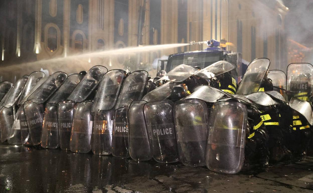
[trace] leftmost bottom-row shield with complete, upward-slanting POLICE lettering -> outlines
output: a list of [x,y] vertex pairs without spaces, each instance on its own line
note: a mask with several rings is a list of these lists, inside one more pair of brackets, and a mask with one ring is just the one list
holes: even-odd
[[23,108],[32,144],[39,145],[42,131],[42,122],[44,119],[44,105],[27,101],[24,103]]

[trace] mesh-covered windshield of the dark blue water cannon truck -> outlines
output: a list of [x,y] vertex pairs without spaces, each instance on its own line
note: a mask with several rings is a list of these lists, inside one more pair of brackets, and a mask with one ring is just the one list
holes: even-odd
[[174,54],[168,58],[167,69],[169,72],[180,64],[186,64],[188,66],[199,66],[201,69],[223,60],[222,52],[220,51],[198,51],[192,53]]

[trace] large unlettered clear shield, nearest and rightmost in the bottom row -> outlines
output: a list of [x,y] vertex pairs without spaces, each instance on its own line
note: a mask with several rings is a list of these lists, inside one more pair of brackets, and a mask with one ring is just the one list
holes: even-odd
[[206,149],[209,170],[238,173],[244,163],[247,108],[238,102],[217,102],[210,115]]

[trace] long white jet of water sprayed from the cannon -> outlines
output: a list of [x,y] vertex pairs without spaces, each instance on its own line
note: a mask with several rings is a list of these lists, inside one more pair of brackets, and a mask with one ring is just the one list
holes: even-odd
[[[152,51],[165,50],[190,45],[189,43],[174,43],[161,45],[148,45],[139,47],[126,47],[113,50],[97,51],[83,54],[76,54],[67,57],[51,58],[39,60],[32,63],[14,64],[0,67],[3,80],[13,81],[12,77],[22,77],[23,74],[30,74],[33,71],[42,69],[49,70],[52,74],[57,71],[63,71],[67,74],[78,73],[81,70],[88,70],[94,65],[105,65],[110,69],[124,69],[124,66],[114,62],[119,57],[129,57],[138,53],[149,53]],[[152,65],[152,64],[151,64]]]

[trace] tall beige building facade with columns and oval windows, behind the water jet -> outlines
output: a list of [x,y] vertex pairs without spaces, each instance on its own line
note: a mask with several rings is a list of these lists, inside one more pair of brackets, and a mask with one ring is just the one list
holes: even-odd
[[[0,20],[5,26],[0,29],[1,68],[139,44],[212,38],[225,39],[227,49],[241,52],[248,62],[266,57],[272,69],[282,70],[288,64],[288,8],[280,0],[4,0],[0,9],[5,13]],[[152,63],[163,55],[203,48],[152,51],[140,61]],[[123,68],[127,59],[102,58],[100,64]],[[81,65],[95,65],[92,60]]]

